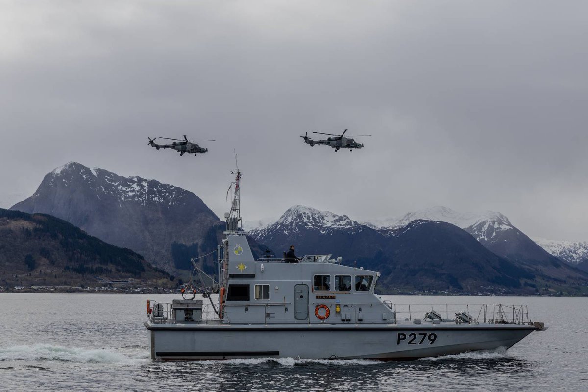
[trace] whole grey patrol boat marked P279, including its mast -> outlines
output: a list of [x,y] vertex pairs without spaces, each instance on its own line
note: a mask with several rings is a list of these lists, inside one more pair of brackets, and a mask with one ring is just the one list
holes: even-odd
[[[154,360],[410,360],[508,349],[546,329],[529,320],[526,306],[483,304],[475,316],[470,307],[450,313],[443,305],[415,318],[415,306],[401,307],[374,293],[379,273],[342,265],[330,254],[255,259],[239,228],[239,182],[237,171],[225,238],[217,248],[218,282],[203,291],[209,303],[194,299],[191,284],[182,295],[192,299],[147,301]],[[213,292],[219,292],[218,302]]]

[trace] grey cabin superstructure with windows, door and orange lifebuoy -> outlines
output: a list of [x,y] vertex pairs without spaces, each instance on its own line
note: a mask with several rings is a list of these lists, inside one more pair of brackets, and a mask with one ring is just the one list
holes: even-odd
[[243,234],[229,234],[218,254],[223,323],[395,323],[391,304],[374,294],[380,274],[340,257],[255,260]]

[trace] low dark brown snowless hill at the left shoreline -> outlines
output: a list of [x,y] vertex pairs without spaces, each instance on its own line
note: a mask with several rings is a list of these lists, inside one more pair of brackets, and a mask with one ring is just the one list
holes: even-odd
[[106,280],[142,279],[173,287],[168,273],[130,249],[92,237],[46,214],[0,209],[0,281],[15,284],[95,286]]

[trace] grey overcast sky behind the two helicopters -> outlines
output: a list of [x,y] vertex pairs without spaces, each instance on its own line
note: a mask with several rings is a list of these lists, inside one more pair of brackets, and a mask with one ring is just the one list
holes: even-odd
[[[588,240],[588,2],[0,0],[0,206],[76,161],[228,207]],[[300,135],[351,135],[335,153]],[[206,155],[147,145],[188,135]]]

